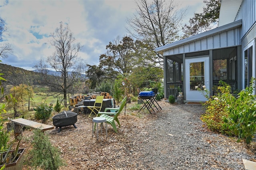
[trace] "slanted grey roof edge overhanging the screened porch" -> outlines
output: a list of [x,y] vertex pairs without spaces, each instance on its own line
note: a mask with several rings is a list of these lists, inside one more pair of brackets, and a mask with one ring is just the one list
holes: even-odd
[[242,20],[238,20],[238,21],[232,22],[230,24],[226,24],[224,26],[220,26],[218,28],[214,28],[212,30],[203,32],[201,34],[197,34],[197,35],[185,38],[183,40],[173,42],[173,43],[164,45],[162,47],[158,47],[158,48],[155,49],[155,51],[157,53],[163,55],[164,51],[166,51],[168,49],[172,49],[174,47],[178,47],[180,45],[184,45],[184,44],[187,44],[187,43],[190,43],[190,42],[195,42],[197,40],[204,39],[206,37],[213,36],[215,34],[220,34],[222,32],[226,32],[228,30],[232,30],[232,29],[235,29],[235,28],[240,28],[241,26],[242,26]]

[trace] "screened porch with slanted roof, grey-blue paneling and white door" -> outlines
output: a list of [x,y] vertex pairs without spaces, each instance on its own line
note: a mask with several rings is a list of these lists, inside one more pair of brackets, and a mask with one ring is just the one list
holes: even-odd
[[242,21],[191,36],[156,49],[164,57],[164,98],[177,97],[179,89],[184,102],[206,101],[196,87],[214,93],[220,80],[242,89],[241,57]]

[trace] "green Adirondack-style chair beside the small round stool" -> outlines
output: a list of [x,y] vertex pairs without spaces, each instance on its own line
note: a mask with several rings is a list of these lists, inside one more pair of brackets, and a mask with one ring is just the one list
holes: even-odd
[[[98,112],[97,114],[97,117],[104,117],[106,118],[106,123],[112,125],[112,127],[114,128],[114,131],[117,132],[117,129],[116,129],[116,124],[115,124],[115,121],[118,123],[119,127],[121,127],[120,123],[119,123],[119,120],[118,120],[118,115],[121,113],[121,111],[124,109],[124,106],[126,104],[126,97],[124,97],[121,105],[119,108],[115,108],[115,110],[117,112]],[[110,110],[109,108],[106,108],[106,110]],[[114,116],[110,116],[110,115],[114,115]],[[96,128],[96,124],[94,125],[94,130]]]

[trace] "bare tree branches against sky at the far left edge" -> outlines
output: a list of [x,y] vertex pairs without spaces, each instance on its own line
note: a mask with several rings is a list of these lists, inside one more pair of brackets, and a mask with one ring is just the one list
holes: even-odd
[[8,53],[12,53],[12,46],[9,43],[4,43],[2,35],[7,32],[5,20],[0,18],[0,57],[8,57]]

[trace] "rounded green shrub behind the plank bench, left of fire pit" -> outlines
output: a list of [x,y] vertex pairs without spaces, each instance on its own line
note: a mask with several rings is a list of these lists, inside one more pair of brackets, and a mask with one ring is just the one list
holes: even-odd
[[52,105],[48,106],[46,103],[41,103],[34,109],[36,111],[35,118],[38,120],[42,120],[43,122],[47,121],[52,115]]

